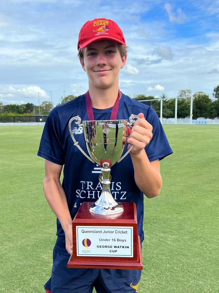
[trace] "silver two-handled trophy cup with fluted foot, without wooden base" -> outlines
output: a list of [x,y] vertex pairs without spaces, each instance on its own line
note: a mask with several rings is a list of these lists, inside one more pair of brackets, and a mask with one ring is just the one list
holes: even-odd
[[[69,132],[74,145],[92,163],[101,167],[99,181],[102,184],[102,193],[99,199],[90,207],[90,212],[100,215],[112,215],[123,212],[124,207],[116,202],[110,191],[111,175],[110,167],[116,162],[120,162],[131,151],[132,147],[122,156],[125,144],[122,142],[124,124],[127,127],[132,125],[135,120],[140,119],[137,115],[131,115],[128,120],[100,120],[83,121],[79,116],[69,120]],[[75,140],[72,132],[72,122],[83,126],[84,140],[87,147],[88,156]]]

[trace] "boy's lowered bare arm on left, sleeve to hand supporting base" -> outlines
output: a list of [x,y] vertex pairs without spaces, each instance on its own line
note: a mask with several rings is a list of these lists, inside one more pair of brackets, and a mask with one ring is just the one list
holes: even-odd
[[68,209],[65,191],[60,183],[62,165],[45,160],[43,189],[46,200],[65,232],[65,246],[72,253],[72,219]]

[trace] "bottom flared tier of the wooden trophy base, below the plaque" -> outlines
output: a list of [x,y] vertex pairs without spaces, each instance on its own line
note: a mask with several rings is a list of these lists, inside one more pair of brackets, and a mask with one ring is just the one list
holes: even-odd
[[140,236],[138,236],[137,244],[137,261],[121,260],[121,261],[107,261],[107,260],[94,260],[92,258],[84,257],[84,260],[74,260],[71,254],[67,263],[67,268],[88,268],[88,269],[122,269],[122,270],[142,270],[142,255]]

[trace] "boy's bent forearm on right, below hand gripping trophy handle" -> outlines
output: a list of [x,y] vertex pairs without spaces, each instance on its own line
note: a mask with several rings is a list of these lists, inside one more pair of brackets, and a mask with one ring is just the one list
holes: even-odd
[[138,188],[149,198],[158,195],[162,179],[160,173],[150,163],[145,150],[142,149],[138,154],[130,154]]

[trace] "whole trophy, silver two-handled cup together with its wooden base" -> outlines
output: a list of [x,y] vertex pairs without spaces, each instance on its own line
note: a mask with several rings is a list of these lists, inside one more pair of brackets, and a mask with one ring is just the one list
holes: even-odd
[[[136,206],[121,205],[110,191],[110,167],[120,162],[125,143],[122,142],[124,123],[132,125],[137,115],[127,120],[83,121],[79,116],[69,121],[74,145],[88,160],[101,167],[99,181],[102,193],[96,202],[83,202],[72,221],[73,252],[68,268],[107,268],[142,270],[141,244],[138,236]],[[81,149],[72,132],[72,121],[83,126],[89,156]]]

